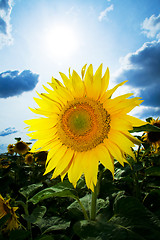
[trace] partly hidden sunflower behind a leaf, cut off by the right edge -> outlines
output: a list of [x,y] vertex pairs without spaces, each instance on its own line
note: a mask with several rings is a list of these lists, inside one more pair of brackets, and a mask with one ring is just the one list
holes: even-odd
[[[160,128],[159,118],[156,120],[152,118],[150,120],[150,124]],[[146,134],[143,136],[143,140],[147,141],[152,146],[152,149],[155,150],[155,152],[158,152],[160,147],[160,132],[146,132]]]

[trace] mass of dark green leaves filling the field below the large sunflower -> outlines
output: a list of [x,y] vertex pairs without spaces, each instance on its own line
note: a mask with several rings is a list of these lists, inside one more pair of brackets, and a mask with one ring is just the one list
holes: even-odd
[[[150,121],[150,120],[148,120]],[[159,131],[147,124],[132,132]],[[128,164],[115,161],[114,180],[103,172],[97,199],[96,220],[90,219],[91,192],[84,177],[76,189],[67,180],[50,180],[43,175],[45,166],[24,162],[25,155],[0,155],[0,194],[18,206],[19,229],[2,231],[5,240],[154,240],[160,236],[160,153],[137,136],[142,145],[133,150],[136,161],[127,156]],[[20,138],[16,139],[20,141]],[[88,218],[86,218],[88,216]],[[10,215],[0,219],[1,230]]]

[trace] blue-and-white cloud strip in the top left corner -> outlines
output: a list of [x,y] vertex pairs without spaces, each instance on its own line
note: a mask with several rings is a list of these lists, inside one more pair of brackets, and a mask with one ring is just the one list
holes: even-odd
[[12,0],[0,0],[0,49],[13,42],[10,25],[11,11]]

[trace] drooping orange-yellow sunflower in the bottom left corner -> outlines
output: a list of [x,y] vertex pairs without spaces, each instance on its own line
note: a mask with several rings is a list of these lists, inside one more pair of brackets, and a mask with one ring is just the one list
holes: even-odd
[[9,214],[9,219],[6,221],[6,227],[3,229],[4,231],[12,231],[19,228],[19,221],[15,211],[18,207],[11,207],[9,204],[10,199],[5,200],[0,194],[0,219],[5,215]]

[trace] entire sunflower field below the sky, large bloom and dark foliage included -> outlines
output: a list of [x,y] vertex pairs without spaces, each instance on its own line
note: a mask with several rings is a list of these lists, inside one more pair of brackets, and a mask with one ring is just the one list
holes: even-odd
[[0,155],[0,239],[158,239],[159,119],[130,116],[142,100],[113,98],[102,65],[60,75],[26,121],[37,141]]

